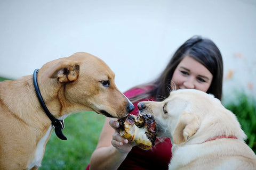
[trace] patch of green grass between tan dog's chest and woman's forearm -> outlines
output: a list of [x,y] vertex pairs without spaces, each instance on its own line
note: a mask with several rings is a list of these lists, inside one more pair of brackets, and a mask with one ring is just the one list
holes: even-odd
[[62,130],[67,141],[60,140],[53,131],[39,169],[85,169],[104,122],[105,116],[94,112],[69,115]]

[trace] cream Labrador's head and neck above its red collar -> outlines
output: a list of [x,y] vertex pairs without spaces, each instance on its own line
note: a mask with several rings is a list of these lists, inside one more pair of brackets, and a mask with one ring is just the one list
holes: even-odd
[[199,90],[172,91],[164,101],[142,101],[138,108],[154,115],[157,136],[168,137],[177,145],[202,143],[220,135],[246,138],[236,116],[213,95]]

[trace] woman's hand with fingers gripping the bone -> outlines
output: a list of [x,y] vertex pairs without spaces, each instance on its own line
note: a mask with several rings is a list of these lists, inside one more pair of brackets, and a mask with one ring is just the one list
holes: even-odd
[[120,152],[124,152],[125,154],[130,152],[132,147],[135,146],[135,143],[129,142],[127,139],[121,137],[118,129],[120,126],[118,121],[110,120],[109,124],[115,130],[115,133],[113,134],[113,138],[111,140],[111,144]]

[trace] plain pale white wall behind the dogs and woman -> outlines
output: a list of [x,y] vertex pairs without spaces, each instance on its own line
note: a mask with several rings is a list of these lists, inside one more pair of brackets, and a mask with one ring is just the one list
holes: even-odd
[[1,0],[0,24],[0,77],[82,51],[102,58],[124,92],[155,79],[201,35],[221,50],[224,96],[256,97],[256,0]]

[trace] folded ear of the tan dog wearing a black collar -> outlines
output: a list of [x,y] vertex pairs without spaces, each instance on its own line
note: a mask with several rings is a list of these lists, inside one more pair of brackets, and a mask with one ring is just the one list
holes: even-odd
[[75,61],[61,61],[54,65],[48,72],[49,78],[57,79],[61,83],[67,83],[77,80],[80,66]]

